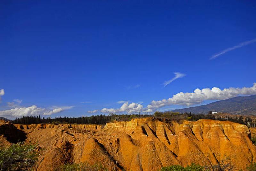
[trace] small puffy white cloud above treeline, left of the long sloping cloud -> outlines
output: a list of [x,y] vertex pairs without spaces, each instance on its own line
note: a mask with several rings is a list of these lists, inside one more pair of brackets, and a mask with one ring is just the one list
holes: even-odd
[[119,113],[119,112],[127,112],[127,113],[138,113],[143,110],[143,106],[139,103],[124,103],[120,108],[103,108],[101,112],[103,113]]

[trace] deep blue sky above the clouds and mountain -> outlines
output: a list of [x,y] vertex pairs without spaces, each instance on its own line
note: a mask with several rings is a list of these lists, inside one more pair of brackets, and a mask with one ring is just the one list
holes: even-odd
[[[6,116],[33,105],[41,108],[33,114],[92,115],[89,110],[120,108],[121,100],[147,108],[196,88],[256,82],[255,42],[209,60],[256,39],[255,1],[6,0],[0,23],[0,113]],[[164,87],[177,72],[184,76]],[[186,107],[180,104],[153,111]]]

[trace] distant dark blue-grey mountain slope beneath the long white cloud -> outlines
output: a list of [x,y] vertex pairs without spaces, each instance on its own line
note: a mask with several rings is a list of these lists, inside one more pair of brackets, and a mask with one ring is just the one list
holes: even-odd
[[256,115],[256,95],[233,97],[226,100],[216,101],[207,105],[172,110],[172,112],[207,114],[210,110],[212,112],[225,112],[236,115]]

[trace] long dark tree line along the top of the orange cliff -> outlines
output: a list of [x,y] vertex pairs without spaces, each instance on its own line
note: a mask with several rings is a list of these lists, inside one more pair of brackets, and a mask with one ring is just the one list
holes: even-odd
[[[210,112],[209,112],[210,113]],[[92,115],[89,117],[56,117],[56,118],[41,118],[40,116],[26,116],[22,118],[17,118],[12,121],[12,123],[19,123],[19,124],[38,124],[38,123],[52,123],[52,124],[106,124],[108,122],[112,122],[114,120],[117,121],[130,121],[134,118],[145,118],[145,117],[152,117],[158,119],[165,119],[165,120],[188,120],[188,121],[197,121],[199,119],[213,119],[213,120],[220,120],[223,121],[225,118],[215,117],[212,114],[192,114],[190,113],[179,113],[179,112],[158,112],[156,111],[154,115],[148,114],[108,114],[108,115]],[[249,119],[250,120],[250,119]],[[243,121],[243,117],[228,117],[228,121],[246,124]],[[250,120],[251,121],[251,120]],[[250,123],[252,126],[253,124]],[[256,124],[254,124],[256,125]]]

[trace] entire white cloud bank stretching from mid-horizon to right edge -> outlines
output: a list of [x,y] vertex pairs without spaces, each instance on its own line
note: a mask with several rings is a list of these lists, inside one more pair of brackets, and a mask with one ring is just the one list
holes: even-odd
[[[103,108],[102,113],[139,113],[139,112],[154,112],[158,108],[171,105],[183,105],[191,106],[194,104],[200,104],[204,100],[225,100],[239,95],[252,95],[256,94],[256,83],[252,87],[243,87],[243,88],[224,88],[220,89],[218,87],[213,88],[203,88],[195,89],[191,93],[177,93],[170,97],[169,99],[163,99],[159,101],[152,101],[146,108],[143,108],[143,105],[139,103],[129,103],[125,102],[120,108]],[[96,110],[94,110],[96,111]],[[89,112],[89,111],[88,111]]]

